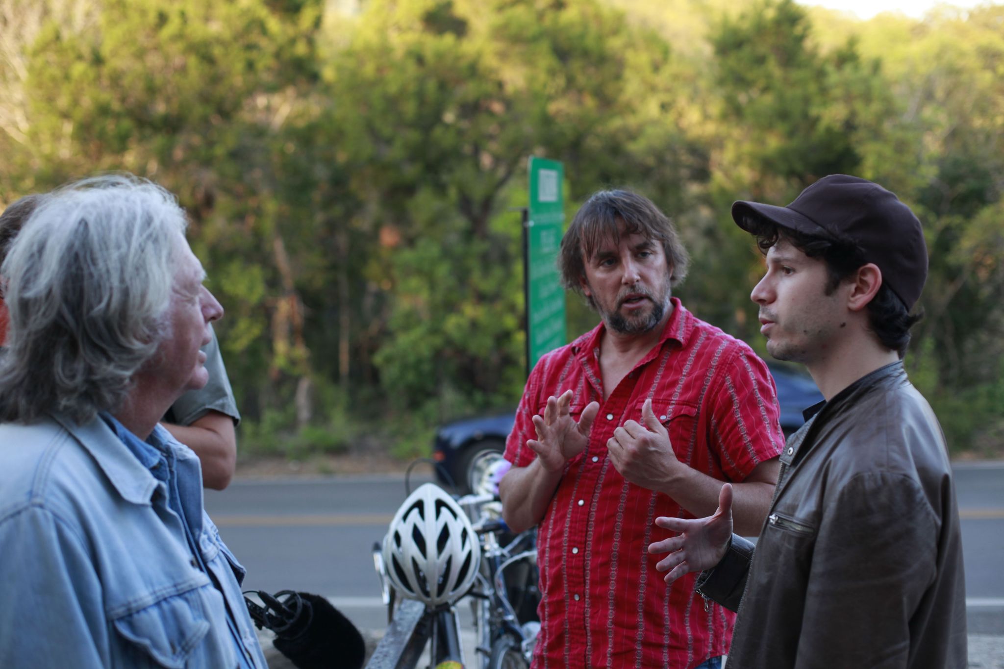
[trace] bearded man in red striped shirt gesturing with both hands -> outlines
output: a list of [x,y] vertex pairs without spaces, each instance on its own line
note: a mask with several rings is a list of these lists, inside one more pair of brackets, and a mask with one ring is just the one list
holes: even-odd
[[717,668],[734,614],[694,575],[667,587],[647,549],[670,536],[657,517],[713,514],[722,480],[736,532],[760,532],[784,445],[774,381],[672,297],[688,256],[648,199],[593,195],[560,264],[601,322],[534,367],[499,486],[510,528],[538,526],[534,667]]

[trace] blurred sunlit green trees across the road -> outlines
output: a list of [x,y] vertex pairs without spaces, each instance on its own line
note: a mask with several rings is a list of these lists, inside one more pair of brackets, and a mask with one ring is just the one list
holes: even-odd
[[108,170],[178,194],[245,454],[414,454],[515,406],[531,154],[564,162],[568,218],[621,186],[674,216],[681,296],[761,351],[731,203],[891,188],[931,251],[912,376],[954,448],[999,448],[1002,137],[1000,5],[0,0],[0,205]]

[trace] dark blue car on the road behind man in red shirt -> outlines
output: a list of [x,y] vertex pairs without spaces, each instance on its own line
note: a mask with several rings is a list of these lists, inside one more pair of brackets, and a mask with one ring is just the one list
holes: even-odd
[[[767,367],[777,385],[781,429],[787,436],[804,422],[802,410],[821,401],[822,395],[805,372],[775,362],[768,362]],[[433,445],[433,456],[441,463],[436,471],[439,482],[443,485],[454,483],[460,494],[475,491],[478,482],[485,479],[488,468],[501,457],[512,423],[513,413],[507,411],[458,420],[441,427]]]

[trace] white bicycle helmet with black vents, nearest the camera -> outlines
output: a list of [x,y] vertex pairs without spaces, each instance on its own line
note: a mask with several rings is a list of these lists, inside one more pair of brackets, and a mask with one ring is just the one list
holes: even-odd
[[437,607],[453,604],[470,589],[481,564],[481,546],[453,497],[425,483],[391,521],[384,562],[405,597]]

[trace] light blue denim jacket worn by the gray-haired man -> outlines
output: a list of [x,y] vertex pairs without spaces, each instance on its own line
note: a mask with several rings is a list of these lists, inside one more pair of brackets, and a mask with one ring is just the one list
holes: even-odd
[[[158,426],[179,475],[198,457]],[[0,666],[266,669],[244,568],[202,513],[192,557],[165,484],[99,418],[0,425]],[[201,504],[200,504],[201,508]]]

